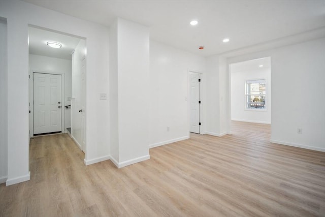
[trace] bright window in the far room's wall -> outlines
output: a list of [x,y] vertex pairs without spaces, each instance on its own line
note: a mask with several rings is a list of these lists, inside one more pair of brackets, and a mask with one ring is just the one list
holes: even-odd
[[266,109],[266,80],[246,81],[246,109]]

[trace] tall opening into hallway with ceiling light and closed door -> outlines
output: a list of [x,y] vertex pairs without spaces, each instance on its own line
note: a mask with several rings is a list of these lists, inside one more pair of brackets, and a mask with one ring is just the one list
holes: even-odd
[[30,138],[70,130],[85,152],[86,40],[29,25],[28,47]]

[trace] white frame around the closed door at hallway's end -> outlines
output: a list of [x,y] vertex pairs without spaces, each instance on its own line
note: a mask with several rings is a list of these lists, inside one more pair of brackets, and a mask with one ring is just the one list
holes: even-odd
[[66,133],[66,129],[64,126],[64,109],[65,99],[64,99],[64,74],[57,72],[44,72],[38,70],[30,70],[29,74],[29,137],[34,137],[34,73],[42,73],[42,74],[53,74],[53,75],[61,75],[61,132]]

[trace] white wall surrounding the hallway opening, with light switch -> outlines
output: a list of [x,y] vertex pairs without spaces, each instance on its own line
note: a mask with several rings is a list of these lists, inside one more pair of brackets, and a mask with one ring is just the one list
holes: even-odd
[[[109,103],[99,94],[108,92],[108,28],[21,1],[1,1],[0,16],[8,27],[8,179],[7,185],[28,180],[28,24],[87,39],[87,159],[109,155],[106,129]],[[55,20],[55,22],[53,22]],[[18,60],[18,61],[17,61]],[[19,100],[17,100],[19,99]],[[23,112],[25,111],[25,112]],[[19,132],[19,136],[17,136]],[[89,149],[89,151],[88,151]]]

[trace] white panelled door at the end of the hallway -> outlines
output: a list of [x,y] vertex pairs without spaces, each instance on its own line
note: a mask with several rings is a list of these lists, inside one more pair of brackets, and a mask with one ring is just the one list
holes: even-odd
[[34,134],[61,132],[61,75],[34,73]]

